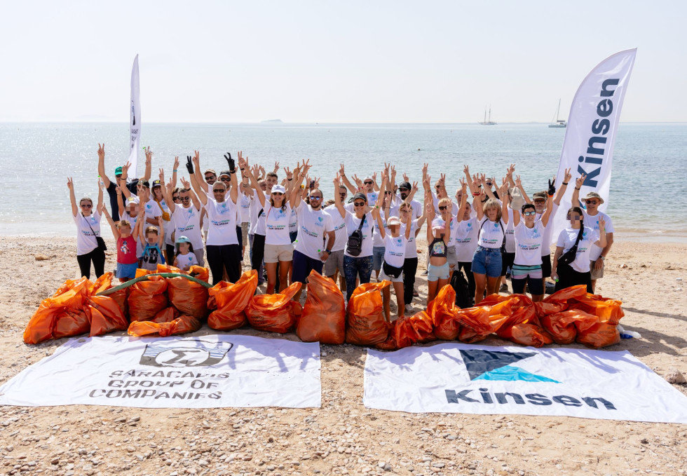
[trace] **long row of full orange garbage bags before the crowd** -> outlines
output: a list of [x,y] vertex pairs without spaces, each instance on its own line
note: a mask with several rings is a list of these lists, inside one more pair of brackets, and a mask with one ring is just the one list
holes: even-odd
[[[388,322],[381,290],[389,281],[357,287],[348,306],[339,287],[313,271],[308,277],[304,306],[292,298],[301,290],[293,283],[278,294],[255,294],[257,272],[246,271],[236,283],[210,285],[208,268],[191,266],[188,273],[158,265],[156,272],[137,270],[128,287],[111,290],[112,274],[91,283],[67,280],[44,299],[24,332],[27,344],[115,330],[131,336],[170,336],[193,332],[207,320],[212,329],[229,331],[250,325],[266,332],[292,332],[302,341],[357,344],[395,350],[435,340],[482,341],[490,334],[524,346],[578,342],[592,348],[618,344],[620,301],[589,294],[585,286],[569,287],[541,302],[524,294],[492,294],[479,306],[461,309],[450,285],[442,287],[426,310]],[[99,295],[101,294],[101,295]]]

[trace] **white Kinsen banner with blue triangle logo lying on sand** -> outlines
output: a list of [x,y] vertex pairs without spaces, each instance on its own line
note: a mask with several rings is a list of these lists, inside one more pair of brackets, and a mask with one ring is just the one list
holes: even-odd
[[369,350],[367,408],[687,423],[687,398],[627,351],[438,344]]

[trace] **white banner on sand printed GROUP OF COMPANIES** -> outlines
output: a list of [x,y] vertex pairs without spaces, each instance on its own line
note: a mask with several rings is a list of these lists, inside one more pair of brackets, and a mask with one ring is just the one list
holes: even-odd
[[0,387],[29,407],[320,407],[320,345],[213,334],[70,339]]

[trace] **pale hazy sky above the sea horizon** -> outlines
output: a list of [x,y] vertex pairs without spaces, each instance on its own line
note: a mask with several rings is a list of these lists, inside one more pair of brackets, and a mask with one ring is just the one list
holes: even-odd
[[685,1],[0,0],[0,121],[562,117],[639,48],[621,121],[687,121]]

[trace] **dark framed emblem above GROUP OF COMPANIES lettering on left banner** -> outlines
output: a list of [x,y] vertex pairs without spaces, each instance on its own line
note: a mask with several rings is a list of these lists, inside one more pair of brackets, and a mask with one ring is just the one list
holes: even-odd
[[140,364],[151,367],[208,367],[224,359],[233,344],[184,339],[147,344]]

